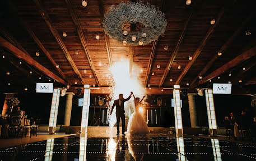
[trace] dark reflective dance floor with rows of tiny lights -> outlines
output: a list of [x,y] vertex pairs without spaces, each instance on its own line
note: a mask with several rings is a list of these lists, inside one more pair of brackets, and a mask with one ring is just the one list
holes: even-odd
[[184,135],[72,135],[0,149],[0,160],[256,160],[254,145]]

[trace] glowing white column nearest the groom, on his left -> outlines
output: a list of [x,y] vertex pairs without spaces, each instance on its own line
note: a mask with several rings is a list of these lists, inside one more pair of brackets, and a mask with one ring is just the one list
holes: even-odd
[[84,85],[83,109],[81,119],[81,133],[87,133],[89,106],[90,106],[90,85]]

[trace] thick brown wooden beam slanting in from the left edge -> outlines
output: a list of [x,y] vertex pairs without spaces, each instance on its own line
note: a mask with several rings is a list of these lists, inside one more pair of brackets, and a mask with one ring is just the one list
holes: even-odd
[[45,74],[45,75],[51,77],[52,79],[62,83],[63,85],[67,85],[68,84],[66,81],[64,81],[63,79],[61,79],[57,75],[55,75],[53,72],[51,72],[50,70],[46,69],[46,67],[44,67],[43,65],[39,64],[39,62],[35,61],[29,54],[21,51],[20,49],[18,49],[17,47],[15,47],[14,45],[12,45],[10,42],[8,42],[7,40],[5,40],[2,37],[0,37],[0,47],[10,51],[16,57],[18,57],[21,60],[25,61],[27,64],[35,67],[35,69],[43,72],[43,74]]

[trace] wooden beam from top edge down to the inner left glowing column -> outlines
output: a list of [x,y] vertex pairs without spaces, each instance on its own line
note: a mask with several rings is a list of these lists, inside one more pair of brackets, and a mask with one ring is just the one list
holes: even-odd
[[[48,13],[46,13],[43,4],[41,4],[40,0],[34,0],[36,7],[39,10],[39,13],[41,14],[41,17],[44,19],[46,25],[48,25],[50,31],[52,32],[54,38],[56,39],[56,41],[58,42],[60,48],[62,48],[64,55],[66,56],[69,64],[71,65],[72,69],[75,71],[76,75],[78,76],[78,78],[81,80],[82,84],[86,84],[86,82],[83,80],[82,75],[80,74],[80,71],[78,70],[75,62],[73,61],[71,55],[69,54],[67,47],[64,45],[64,42],[62,41],[62,38],[59,36],[58,31],[56,30],[56,28],[53,26],[53,23],[48,15]],[[79,33],[78,33],[79,34]]]

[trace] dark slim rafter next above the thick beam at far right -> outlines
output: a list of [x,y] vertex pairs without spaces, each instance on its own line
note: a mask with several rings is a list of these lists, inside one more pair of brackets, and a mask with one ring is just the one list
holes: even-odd
[[[249,22],[249,20],[253,17],[254,13],[250,14],[250,16],[248,16],[245,21],[242,23],[242,25],[238,28],[238,30],[236,30],[232,36],[230,36],[229,40],[227,40],[227,42],[221,46],[220,48],[220,52],[224,53],[227,48],[231,45],[231,43],[235,40],[236,37],[238,37],[239,33],[241,33],[241,31],[243,30],[243,28],[245,27],[245,25]],[[217,53],[211,58],[211,60],[209,62],[207,62],[207,65],[204,66],[204,68],[202,69],[201,72],[199,72],[199,74],[193,79],[193,81],[190,83],[190,87],[194,87],[195,82],[198,80],[199,76],[203,76],[209,69],[210,67],[213,65],[213,63],[218,59]]]

